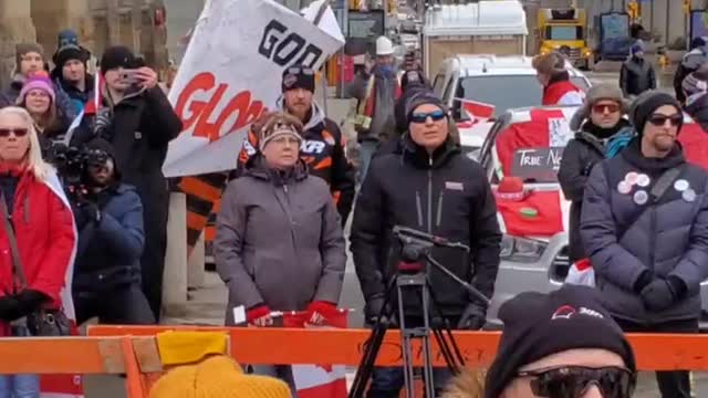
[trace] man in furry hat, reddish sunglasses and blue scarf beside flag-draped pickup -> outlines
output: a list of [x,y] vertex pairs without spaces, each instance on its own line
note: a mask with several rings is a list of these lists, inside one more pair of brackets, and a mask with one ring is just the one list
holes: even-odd
[[571,262],[586,258],[580,239],[580,214],[585,193],[585,184],[593,166],[605,158],[614,157],[624,148],[634,132],[623,116],[628,105],[616,86],[600,84],[592,86],[585,104],[571,121],[575,138],[563,150],[558,180],[565,199],[571,201],[569,222]]

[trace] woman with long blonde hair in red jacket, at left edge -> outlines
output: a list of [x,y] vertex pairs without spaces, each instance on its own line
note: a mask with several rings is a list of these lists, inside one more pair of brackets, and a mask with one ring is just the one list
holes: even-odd
[[[0,336],[40,335],[32,322],[40,312],[73,318],[71,207],[42,160],[32,117],[14,106],[0,109]],[[0,376],[0,397],[12,396],[39,397],[39,378]]]

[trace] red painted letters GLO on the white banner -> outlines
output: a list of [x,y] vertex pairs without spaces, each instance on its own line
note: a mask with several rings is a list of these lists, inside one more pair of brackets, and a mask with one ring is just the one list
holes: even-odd
[[[221,103],[221,97],[223,97],[223,94],[228,91],[229,85],[220,83],[216,86],[216,91],[207,102],[194,100],[194,95],[197,92],[209,92],[215,88],[215,86],[216,77],[212,73],[199,73],[192,77],[185,90],[179,94],[177,105],[175,106],[177,115],[183,121],[184,130],[188,130],[194,127],[192,135],[195,137],[209,138],[210,143],[221,137],[220,132],[225,132],[222,128],[223,124],[235,113],[238,113],[238,117],[233,123],[233,126],[226,129],[226,134],[232,133],[250,124],[266,111],[261,101],[252,100],[250,91],[242,91],[229,101],[223,111],[221,111],[217,117],[217,121],[215,123],[210,123],[209,119],[211,118],[216,107]],[[189,112],[188,118],[185,111]]]

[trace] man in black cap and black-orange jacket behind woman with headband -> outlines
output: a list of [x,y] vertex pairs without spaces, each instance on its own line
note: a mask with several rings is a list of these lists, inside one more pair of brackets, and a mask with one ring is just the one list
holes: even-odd
[[[295,116],[304,126],[300,158],[308,165],[311,175],[322,178],[332,190],[342,226],[352,210],[356,177],[354,168],[345,155],[346,140],[334,121],[313,101],[315,88],[314,71],[306,66],[292,66],[283,72],[282,107]],[[248,159],[256,155],[259,130],[270,113],[261,115],[251,125],[239,154],[237,176],[244,170]]]

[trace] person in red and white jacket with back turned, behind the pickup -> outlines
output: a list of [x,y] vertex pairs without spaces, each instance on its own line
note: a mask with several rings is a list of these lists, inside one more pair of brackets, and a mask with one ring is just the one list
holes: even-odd
[[585,94],[570,81],[570,74],[565,70],[565,57],[552,52],[537,55],[532,61],[537,71],[539,83],[543,85],[544,106],[551,105],[583,105]]

